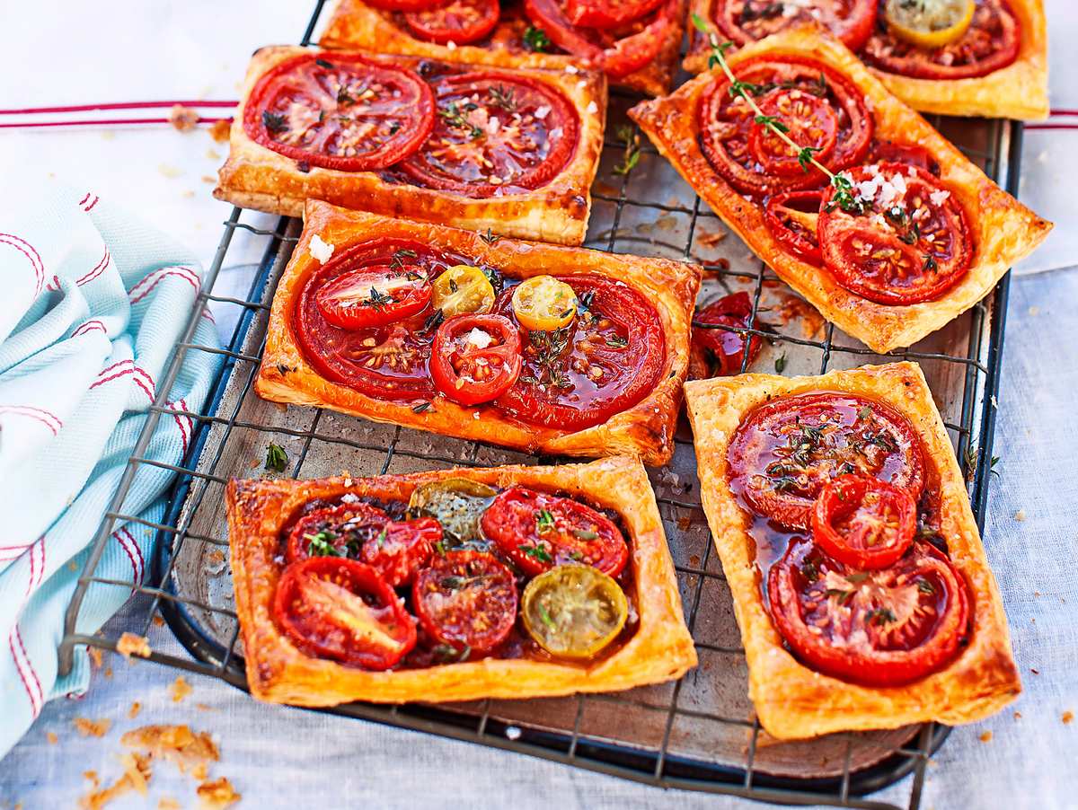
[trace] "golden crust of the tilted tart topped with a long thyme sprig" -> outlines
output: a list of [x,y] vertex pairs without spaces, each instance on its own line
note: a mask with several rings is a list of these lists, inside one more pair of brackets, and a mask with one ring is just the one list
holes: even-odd
[[757,255],[828,321],[873,351],[910,346],[949,323],[983,298],[1011,265],[1048,236],[1051,223],[989,180],[928,122],[890,95],[837,39],[821,34],[814,26],[791,28],[747,45],[730,57],[730,65],[736,73],[740,62],[760,55],[808,56],[835,69],[863,94],[875,120],[877,140],[920,145],[931,153],[940,166],[940,180],[962,202],[971,226],[973,263],[962,281],[936,301],[885,306],[849,292],[827,269],[787,251],[769,231],[762,207],[746,200],[701,151],[696,110],[715,73],[696,76],[673,96],[644,101],[628,114]]

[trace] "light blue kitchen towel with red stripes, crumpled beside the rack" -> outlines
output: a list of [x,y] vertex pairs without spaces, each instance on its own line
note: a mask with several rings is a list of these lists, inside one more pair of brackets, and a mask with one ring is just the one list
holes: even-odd
[[[169,237],[58,182],[0,199],[0,757],[46,700],[89,683],[85,651],[57,680],[64,614],[135,442],[160,400],[197,411],[220,355],[189,351],[158,392],[202,283]],[[195,343],[217,345],[202,318]],[[147,458],[177,464],[194,424],[160,419]],[[175,474],[141,464],[123,513],[157,520]],[[153,533],[118,523],[99,576],[141,583]],[[78,630],[132,596],[94,584]]]

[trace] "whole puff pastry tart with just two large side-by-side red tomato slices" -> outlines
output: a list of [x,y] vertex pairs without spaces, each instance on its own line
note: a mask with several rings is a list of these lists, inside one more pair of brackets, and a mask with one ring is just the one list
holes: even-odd
[[264,47],[213,195],[290,217],[315,198],[579,245],[605,115],[600,73]]

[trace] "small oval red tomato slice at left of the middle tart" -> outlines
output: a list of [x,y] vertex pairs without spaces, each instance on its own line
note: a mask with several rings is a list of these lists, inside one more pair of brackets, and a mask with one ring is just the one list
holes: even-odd
[[430,293],[421,267],[384,264],[341,274],[319,288],[315,303],[334,326],[357,330],[415,315],[430,303]]

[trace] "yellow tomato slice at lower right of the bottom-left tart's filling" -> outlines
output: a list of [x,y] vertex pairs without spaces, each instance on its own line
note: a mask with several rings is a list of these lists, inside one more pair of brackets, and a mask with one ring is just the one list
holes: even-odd
[[593,658],[628,616],[625,591],[591,565],[557,565],[528,583],[521,599],[528,634],[559,658]]

